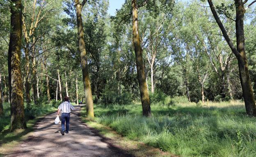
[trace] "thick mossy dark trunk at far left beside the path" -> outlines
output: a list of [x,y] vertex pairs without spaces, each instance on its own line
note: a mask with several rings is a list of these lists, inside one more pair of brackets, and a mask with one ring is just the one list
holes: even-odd
[[11,0],[11,33],[8,51],[8,73],[11,107],[10,130],[25,128],[23,85],[21,77],[21,0]]

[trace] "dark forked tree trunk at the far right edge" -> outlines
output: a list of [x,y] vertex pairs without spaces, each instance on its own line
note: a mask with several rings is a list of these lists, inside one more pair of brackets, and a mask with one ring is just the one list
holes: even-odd
[[208,0],[210,5],[210,9],[213,13],[213,16],[219,25],[219,28],[222,31],[222,34],[229,44],[230,49],[235,54],[238,60],[238,68],[239,68],[239,75],[240,75],[240,83],[242,86],[243,97],[245,100],[245,109],[247,115],[256,116],[256,105],[254,100],[254,94],[251,87],[251,80],[248,70],[248,63],[245,53],[245,35],[244,35],[244,15],[245,15],[245,8],[244,3],[242,0],[235,0],[235,10],[236,10],[236,20],[235,20],[235,29],[236,29],[236,45],[233,45],[232,41],[230,40],[229,36],[226,33],[226,29],[224,28],[222,22],[219,20],[219,16],[215,11],[213,6],[212,0]]

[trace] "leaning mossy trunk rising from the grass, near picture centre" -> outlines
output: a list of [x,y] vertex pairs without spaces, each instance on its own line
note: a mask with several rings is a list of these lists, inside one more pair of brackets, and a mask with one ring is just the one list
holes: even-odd
[[137,79],[139,82],[139,92],[142,102],[142,112],[146,117],[151,117],[151,108],[149,100],[149,91],[146,86],[146,78],[144,71],[144,64],[142,58],[142,48],[139,38],[139,24],[138,24],[138,6],[137,0],[132,0],[133,8],[133,45],[135,49],[136,66],[137,66]]

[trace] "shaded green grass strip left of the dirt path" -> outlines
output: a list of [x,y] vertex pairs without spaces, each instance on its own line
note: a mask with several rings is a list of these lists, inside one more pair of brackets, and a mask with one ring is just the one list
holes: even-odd
[[30,109],[25,109],[25,120],[27,128],[17,129],[13,132],[10,132],[10,105],[8,103],[4,103],[3,107],[4,115],[0,117],[0,146],[11,142],[15,143],[15,141],[21,140],[24,135],[33,130],[33,126],[37,122],[38,118],[56,111],[56,108],[52,107],[52,105],[32,105]]

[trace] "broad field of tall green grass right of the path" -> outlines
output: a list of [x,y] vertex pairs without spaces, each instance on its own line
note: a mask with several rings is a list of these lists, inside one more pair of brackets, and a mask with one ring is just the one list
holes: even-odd
[[[242,102],[94,106],[95,120],[129,139],[181,157],[255,157],[256,118]],[[85,108],[83,109],[85,115]]]

